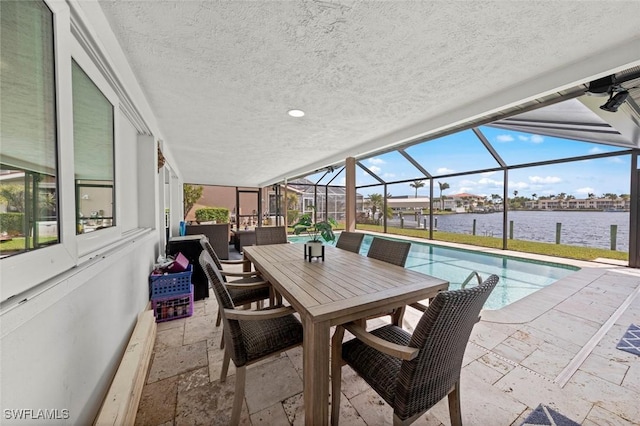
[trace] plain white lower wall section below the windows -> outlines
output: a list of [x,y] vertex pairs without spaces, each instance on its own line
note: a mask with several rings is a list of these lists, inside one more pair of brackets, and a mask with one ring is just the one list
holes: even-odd
[[[2,424],[7,409],[68,410],[42,424],[91,424],[148,302],[156,235],[64,274],[2,315]],[[62,417],[62,416],[61,416]]]

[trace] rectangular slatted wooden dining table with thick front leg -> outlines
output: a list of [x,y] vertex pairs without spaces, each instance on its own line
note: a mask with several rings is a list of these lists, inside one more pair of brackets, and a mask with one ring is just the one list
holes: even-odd
[[304,328],[306,425],[329,422],[330,328],[435,297],[449,283],[325,246],[325,260],[304,258],[303,244],[244,247],[244,256],[300,315]]

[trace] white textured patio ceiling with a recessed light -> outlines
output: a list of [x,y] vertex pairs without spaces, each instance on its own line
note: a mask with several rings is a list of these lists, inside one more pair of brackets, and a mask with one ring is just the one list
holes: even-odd
[[609,68],[578,65],[640,39],[638,1],[99,3],[185,182],[217,185],[270,184],[584,83]]

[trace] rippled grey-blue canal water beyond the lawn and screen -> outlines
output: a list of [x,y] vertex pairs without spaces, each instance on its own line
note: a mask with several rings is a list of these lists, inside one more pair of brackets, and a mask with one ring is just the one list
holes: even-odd
[[[428,216],[427,223],[429,221]],[[435,229],[458,234],[471,234],[476,220],[476,235],[502,238],[502,213],[456,213],[434,215],[438,218]],[[611,248],[611,225],[617,225],[616,250],[629,250],[628,212],[578,211],[512,211],[513,238],[516,240],[556,242],[556,223],[561,223],[560,243],[583,247]],[[399,226],[399,220],[389,221]],[[413,216],[405,215],[404,226],[415,227]],[[507,223],[507,236],[509,226]]]

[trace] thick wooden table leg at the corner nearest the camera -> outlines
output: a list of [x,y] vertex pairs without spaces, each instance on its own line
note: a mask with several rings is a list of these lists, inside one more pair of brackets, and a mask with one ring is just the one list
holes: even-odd
[[304,418],[307,425],[329,423],[329,323],[303,319]]

